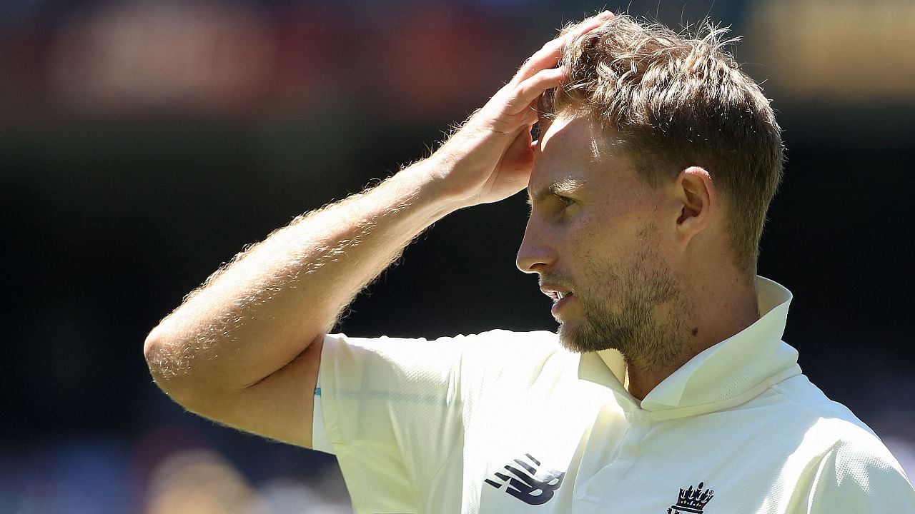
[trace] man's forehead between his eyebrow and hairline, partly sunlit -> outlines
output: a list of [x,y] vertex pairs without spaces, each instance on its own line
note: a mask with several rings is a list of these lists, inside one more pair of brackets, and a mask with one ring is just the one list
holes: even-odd
[[573,182],[597,191],[629,188],[635,177],[613,134],[585,116],[560,115],[541,135],[528,189],[535,198],[557,184]]

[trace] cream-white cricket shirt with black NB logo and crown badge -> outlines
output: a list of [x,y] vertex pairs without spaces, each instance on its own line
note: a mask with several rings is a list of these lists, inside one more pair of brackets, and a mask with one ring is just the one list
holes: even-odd
[[780,340],[791,293],[639,402],[548,332],[328,336],[314,445],[357,513],[915,513],[888,449]]

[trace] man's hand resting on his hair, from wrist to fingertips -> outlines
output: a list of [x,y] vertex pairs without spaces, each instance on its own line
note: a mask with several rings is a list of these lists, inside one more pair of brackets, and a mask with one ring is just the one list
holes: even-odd
[[537,99],[565,80],[565,70],[556,65],[568,43],[611,17],[605,11],[546,43],[429,158],[447,195],[460,207],[498,201],[527,187]]

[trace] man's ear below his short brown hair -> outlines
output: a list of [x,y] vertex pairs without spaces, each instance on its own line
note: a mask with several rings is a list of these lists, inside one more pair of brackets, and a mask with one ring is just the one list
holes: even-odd
[[677,176],[674,194],[681,205],[677,232],[681,241],[688,242],[708,226],[718,207],[715,184],[705,169],[690,166]]

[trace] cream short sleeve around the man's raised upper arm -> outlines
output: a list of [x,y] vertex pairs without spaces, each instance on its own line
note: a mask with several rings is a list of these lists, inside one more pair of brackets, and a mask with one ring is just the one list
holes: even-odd
[[337,455],[357,512],[417,511],[425,483],[459,455],[469,338],[325,338],[319,403],[329,447],[318,449]]

